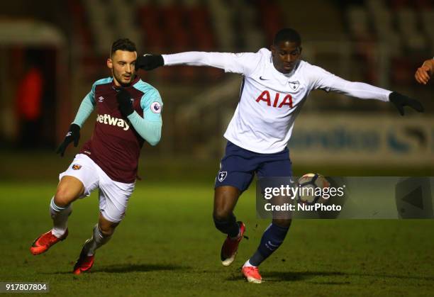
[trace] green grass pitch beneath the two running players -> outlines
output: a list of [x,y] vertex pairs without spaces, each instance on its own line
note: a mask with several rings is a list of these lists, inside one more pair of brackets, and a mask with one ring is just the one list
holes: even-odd
[[28,251],[50,228],[56,183],[0,184],[0,281],[50,284],[55,296],[432,296],[434,220],[296,220],[262,264],[265,283],[240,266],[268,221],[255,215],[254,187],[238,203],[247,225],[238,257],[223,267],[223,235],[211,219],[213,184],[139,181],[125,220],[96,253],[91,273],[71,271],[96,223],[96,195],[77,201],[69,237],[46,254]]

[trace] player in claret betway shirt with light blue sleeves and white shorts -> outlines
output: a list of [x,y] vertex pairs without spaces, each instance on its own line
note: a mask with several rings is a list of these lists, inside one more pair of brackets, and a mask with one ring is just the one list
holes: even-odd
[[116,40],[107,59],[112,77],[96,81],[84,97],[77,116],[57,152],[64,155],[69,143],[77,147],[79,130],[96,109],[94,133],[68,169],[60,174],[50,202],[53,228],[40,235],[30,247],[42,254],[68,235],[71,204],[99,189],[99,220],[84,243],[74,274],[91,269],[95,250],[106,244],[121,223],[133,193],[138,158],[143,142],[157,145],[162,128],[162,100],[157,89],[135,74],[137,51],[128,39]]

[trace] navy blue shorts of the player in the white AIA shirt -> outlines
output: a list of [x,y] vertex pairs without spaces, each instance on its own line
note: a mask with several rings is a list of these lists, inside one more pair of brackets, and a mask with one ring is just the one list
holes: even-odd
[[253,176],[274,177],[292,176],[291,159],[288,147],[274,154],[260,154],[245,150],[228,141],[226,152],[221,159],[220,170],[216,176],[215,188],[218,186],[235,186],[245,191]]

